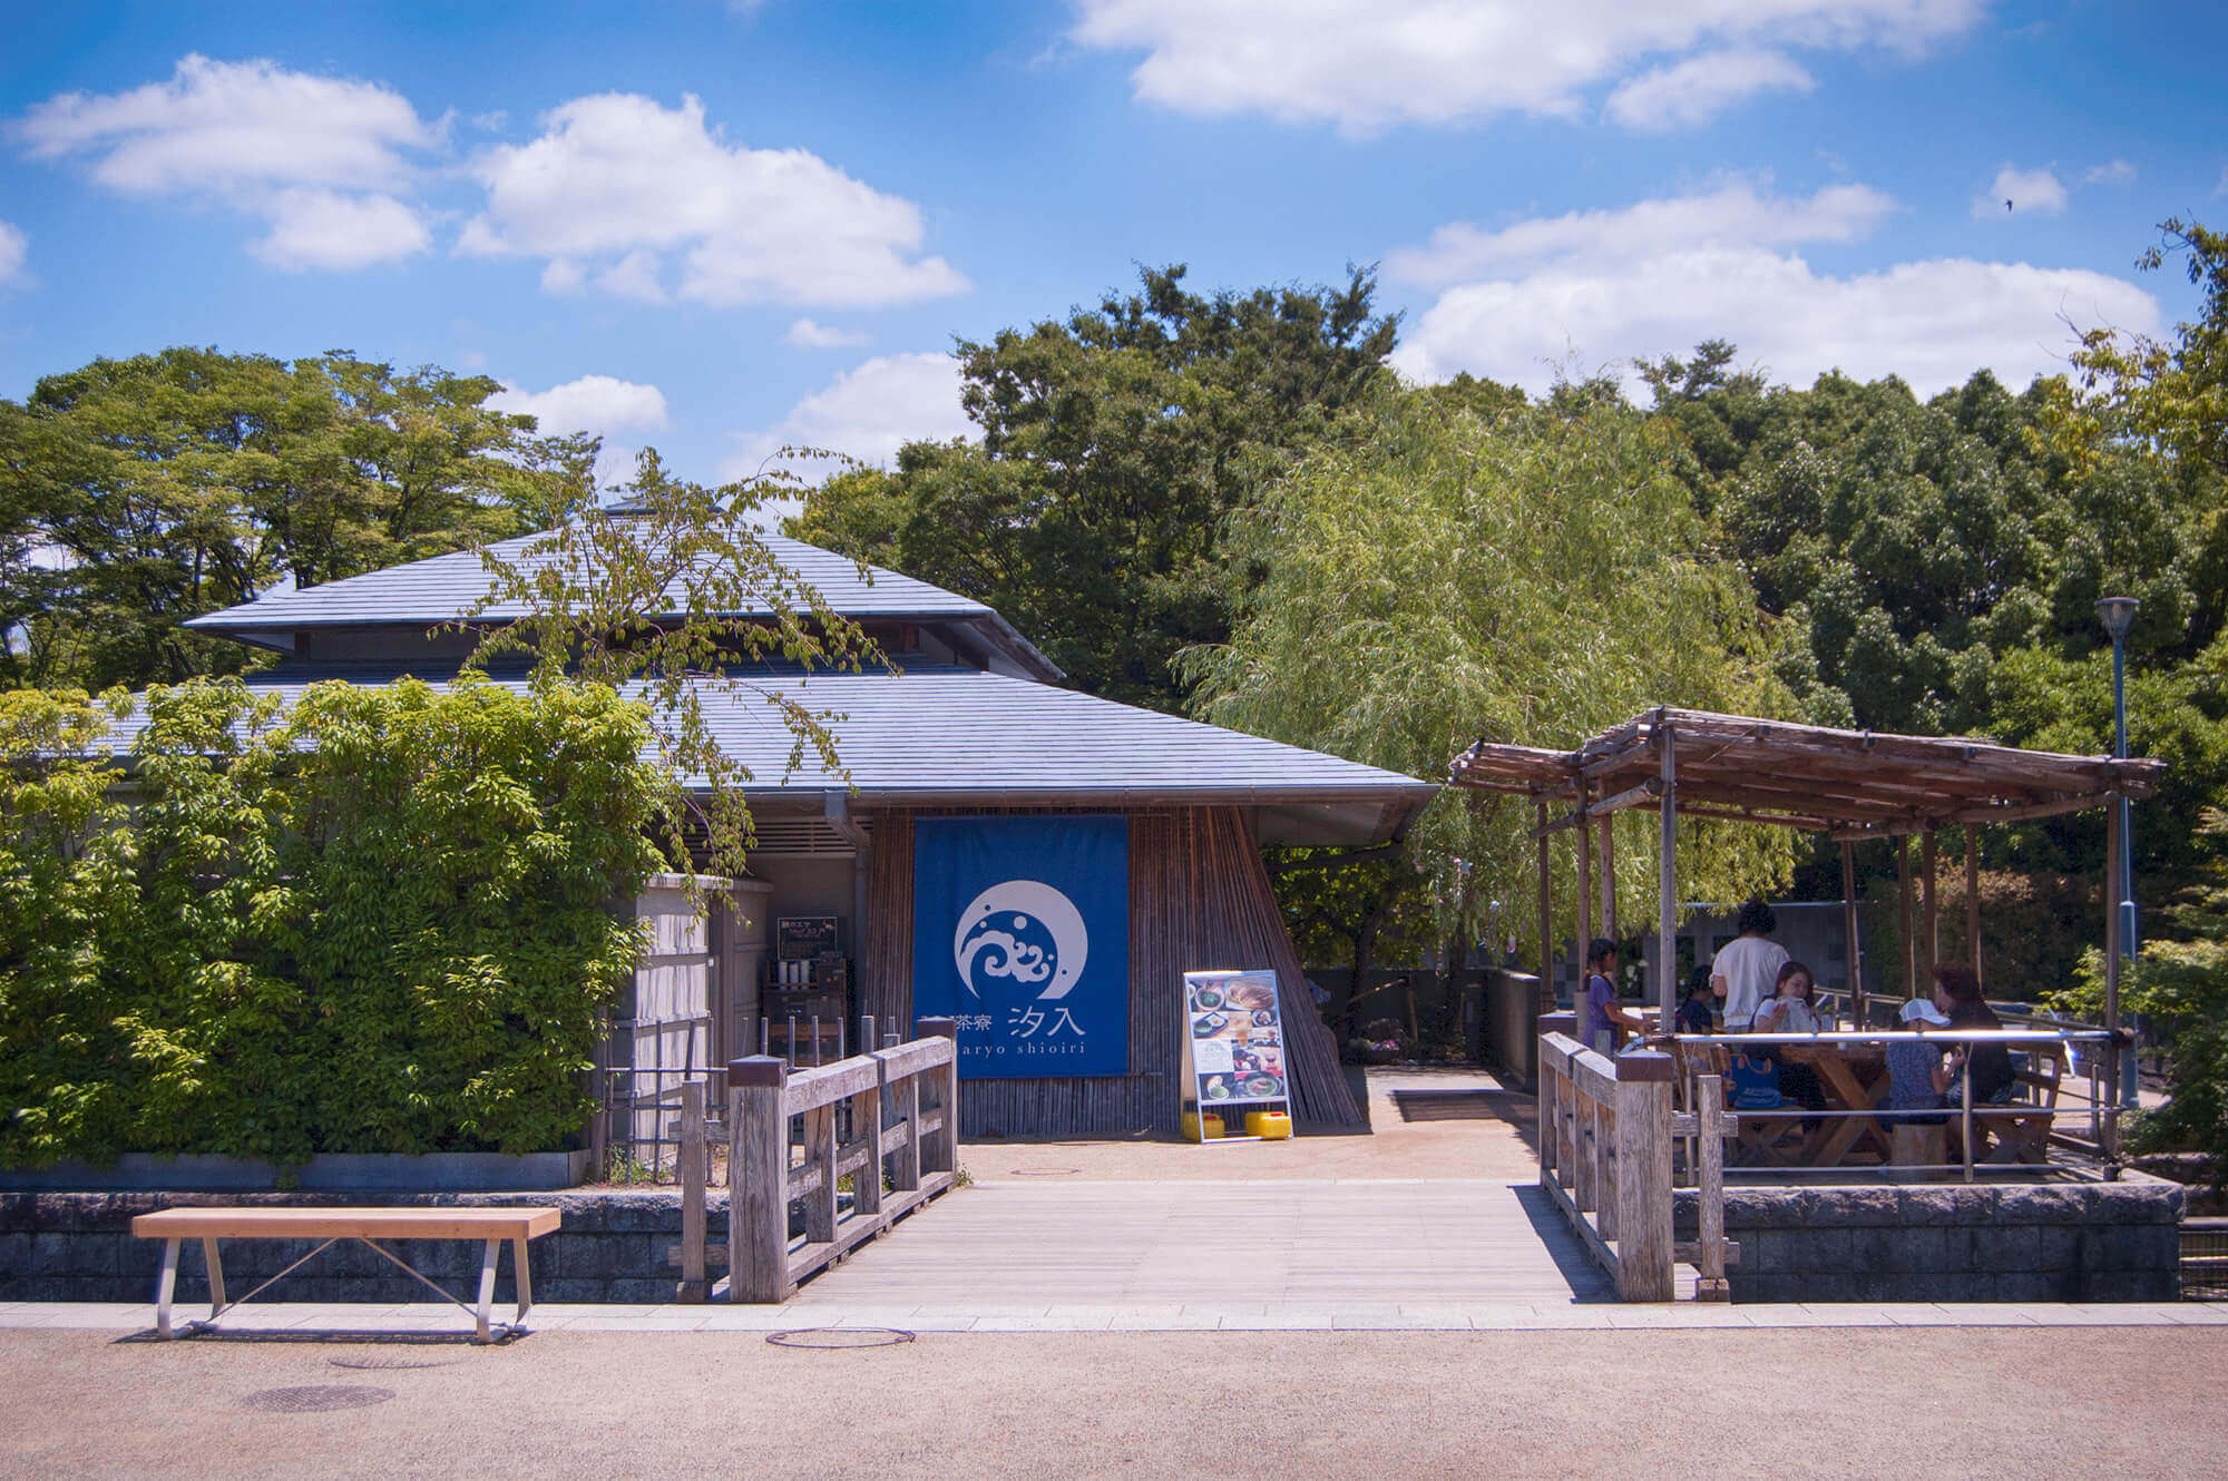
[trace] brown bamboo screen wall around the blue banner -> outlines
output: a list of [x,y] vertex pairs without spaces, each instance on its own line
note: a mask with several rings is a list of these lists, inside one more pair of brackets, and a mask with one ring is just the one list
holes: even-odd
[[[913,1016],[913,813],[876,813],[862,1011]],[[1268,871],[1237,808],[1130,813],[1130,1073],[965,1080],[967,1136],[1118,1136],[1176,1129],[1183,973],[1272,967],[1283,993],[1294,1111],[1359,1125],[1339,1049],[1315,1009]]]

